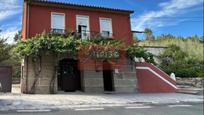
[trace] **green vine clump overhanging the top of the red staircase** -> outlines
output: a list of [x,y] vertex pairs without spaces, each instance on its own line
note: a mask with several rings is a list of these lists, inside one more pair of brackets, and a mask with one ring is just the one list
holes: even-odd
[[146,62],[154,63],[154,56],[152,53],[147,52],[143,47],[138,47],[136,45],[131,45],[126,49],[127,57],[134,59],[135,57],[143,57]]

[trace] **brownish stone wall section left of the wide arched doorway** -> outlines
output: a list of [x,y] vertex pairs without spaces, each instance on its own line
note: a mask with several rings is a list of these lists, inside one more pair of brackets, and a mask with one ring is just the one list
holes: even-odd
[[[55,58],[52,55],[44,55],[35,63],[31,57],[26,58],[23,62],[23,71],[21,77],[21,92],[35,94],[49,94],[57,92],[57,79],[53,79],[55,73]],[[38,71],[41,72],[38,72]],[[37,75],[39,73],[39,75]],[[53,81],[53,87],[50,87]],[[35,85],[34,85],[35,84]]]

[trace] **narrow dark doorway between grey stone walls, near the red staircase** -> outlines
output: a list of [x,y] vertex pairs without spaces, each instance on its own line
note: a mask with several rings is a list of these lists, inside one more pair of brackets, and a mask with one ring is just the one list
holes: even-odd
[[103,62],[103,84],[104,91],[114,91],[113,72],[111,64],[107,61]]

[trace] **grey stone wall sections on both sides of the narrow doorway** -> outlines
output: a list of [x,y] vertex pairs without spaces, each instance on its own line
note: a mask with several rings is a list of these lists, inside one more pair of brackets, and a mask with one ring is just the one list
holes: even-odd
[[[118,93],[132,93],[137,92],[137,78],[136,78],[136,70],[134,63],[128,61],[127,65],[118,70],[117,73],[114,70],[113,72],[113,87],[115,89],[114,92]],[[104,85],[103,85],[103,71],[95,71],[95,70],[84,70],[81,73],[82,78],[82,89],[85,92],[92,93],[103,93]]]

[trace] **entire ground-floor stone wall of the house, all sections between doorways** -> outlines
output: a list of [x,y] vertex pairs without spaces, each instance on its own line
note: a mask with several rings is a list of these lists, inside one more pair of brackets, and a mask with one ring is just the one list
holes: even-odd
[[[59,59],[61,58],[58,57],[56,59],[52,55],[43,55],[40,66],[39,62],[36,64],[32,58],[26,58],[22,64],[21,92],[50,94],[52,90],[52,93],[57,93],[58,88],[55,69]],[[36,75],[38,70],[41,70],[41,72],[39,75]],[[128,61],[125,68],[119,69],[118,72],[115,71],[115,69],[112,71],[115,92],[137,92],[137,78],[134,63]],[[54,83],[53,87],[50,87],[51,81]],[[103,71],[82,70],[81,87],[84,92],[103,93]]]

